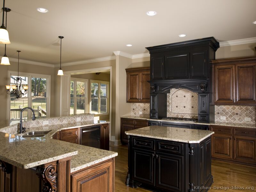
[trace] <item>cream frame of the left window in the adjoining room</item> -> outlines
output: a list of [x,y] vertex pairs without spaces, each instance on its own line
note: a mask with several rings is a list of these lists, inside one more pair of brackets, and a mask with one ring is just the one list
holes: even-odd
[[[77,97],[76,97],[76,82],[84,82],[84,113],[88,113],[88,79],[81,79],[81,78],[72,78],[70,77],[70,83],[71,81],[74,81],[74,115],[76,115],[76,101],[77,101]],[[69,83],[69,86],[70,86]],[[71,92],[71,90],[70,90]],[[86,97],[87,96],[87,97]],[[69,114],[70,114],[70,100],[72,97],[70,97],[70,93],[69,93]]]

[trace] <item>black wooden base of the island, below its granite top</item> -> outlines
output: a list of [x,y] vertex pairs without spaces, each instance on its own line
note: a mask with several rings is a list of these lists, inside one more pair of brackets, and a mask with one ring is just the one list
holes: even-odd
[[129,135],[126,185],[152,191],[207,191],[212,184],[211,137],[182,143]]

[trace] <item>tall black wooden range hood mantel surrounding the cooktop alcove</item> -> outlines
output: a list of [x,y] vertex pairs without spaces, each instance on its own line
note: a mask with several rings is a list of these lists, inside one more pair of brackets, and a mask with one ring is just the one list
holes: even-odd
[[214,121],[210,61],[219,47],[214,37],[146,47],[150,53],[150,118],[166,117],[166,94],[172,88],[184,88],[198,93],[198,122]]

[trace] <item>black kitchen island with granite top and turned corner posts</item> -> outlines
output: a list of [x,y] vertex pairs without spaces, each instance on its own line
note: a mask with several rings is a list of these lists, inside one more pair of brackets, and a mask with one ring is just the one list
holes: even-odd
[[212,131],[148,126],[129,137],[126,185],[152,191],[204,192],[212,185]]

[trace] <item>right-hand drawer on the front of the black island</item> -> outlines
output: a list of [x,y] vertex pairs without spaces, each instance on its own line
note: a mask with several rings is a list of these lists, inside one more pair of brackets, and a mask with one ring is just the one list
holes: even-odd
[[156,150],[177,155],[183,155],[183,146],[183,143],[156,141]]

